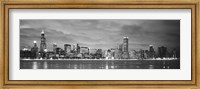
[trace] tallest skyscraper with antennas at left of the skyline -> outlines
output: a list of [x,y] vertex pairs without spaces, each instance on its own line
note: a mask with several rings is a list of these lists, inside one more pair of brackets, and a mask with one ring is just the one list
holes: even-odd
[[44,52],[44,49],[47,48],[46,38],[44,31],[41,32],[41,43],[40,43],[40,52]]

